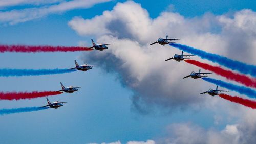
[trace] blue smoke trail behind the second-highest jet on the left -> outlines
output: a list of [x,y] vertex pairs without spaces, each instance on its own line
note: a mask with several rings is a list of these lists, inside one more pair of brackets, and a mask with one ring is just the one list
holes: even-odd
[[76,71],[74,69],[0,69],[0,77],[11,76],[38,76],[38,75],[52,75],[63,74]]

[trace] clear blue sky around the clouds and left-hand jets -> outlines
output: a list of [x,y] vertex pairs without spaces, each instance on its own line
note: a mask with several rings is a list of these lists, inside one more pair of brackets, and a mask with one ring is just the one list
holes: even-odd
[[[75,16],[91,19],[105,10],[112,10],[119,1],[100,3],[91,8],[79,8],[57,14],[49,14],[37,19],[0,26],[1,44],[63,45],[77,46],[86,41],[91,46],[91,36],[78,35],[68,22]],[[125,1],[120,1],[125,2]],[[163,11],[180,13],[184,17],[201,17],[207,12],[222,15],[241,9],[255,10],[252,1],[135,1],[156,18]],[[1,3],[1,2],[0,2]],[[4,11],[24,9],[33,5],[6,7]],[[0,9],[1,10],[1,9]],[[1,11],[0,11],[1,12]],[[94,38],[94,37],[93,37]],[[111,46],[110,46],[111,49]],[[108,50],[106,50],[108,51]],[[84,52],[90,53],[90,52]],[[101,52],[98,52],[101,53]],[[104,53],[104,51],[102,52]],[[70,68],[74,60],[83,64],[82,52],[74,53],[0,53],[2,68]],[[177,110],[162,114],[143,115],[132,108],[134,91],[118,79],[118,73],[107,73],[97,65],[85,73],[0,77],[2,91],[44,91],[59,90],[65,86],[81,86],[73,94],[63,93],[49,97],[50,101],[68,101],[59,109],[18,113],[0,116],[1,143],[90,143],[114,142],[120,140],[146,141],[164,135],[166,126],[172,123],[193,122],[205,129],[214,126],[214,111],[208,109]],[[208,99],[208,98],[206,98]],[[220,98],[218,98],[220,99]],[[2,108],[42,106],[45,98],[21,101],[0,101]],[[225,127],[233,119],[225,119],[215,129]]]

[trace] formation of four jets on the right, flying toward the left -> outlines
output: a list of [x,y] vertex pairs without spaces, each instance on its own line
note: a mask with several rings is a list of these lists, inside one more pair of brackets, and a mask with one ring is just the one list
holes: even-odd
[[[156,44],[156,43],[159,43],[160,45],[165,45],[165,44],[169,44],[169,43],[175,43],[172,40],[179,40],[179,38],[168,39],[168,35],[166,35],[165,39],[159,38],[157,41],[151,43],[150,45],[153,45],[153,44]],[[184,58],[184,57],[194,57],[194,56],[195,55],[183,55],[183,51],[182,51],[181,55],[175,54],[172,58],[166,59],[165,61],[175,60],[175,61],[180,62],[180,61],[184,61],[186,59],[190,59],[190,58]],[[188,78],[188,77],[191,77],[193,79],[199,79],[199,78],[202,78],[202,77],[207,77],[207,76],[203,76],[203,75],[207,75],[207,74],[212,74],[212,73],[201,73],[201,69],[199,69],[198,73],[196,73],[195,71],[192,71],[190,73],[190,75],[184,77],[183,79]],[[205,92],[200,93],[200,94],[208,93],[211,96],[218,95],[218,94],[223,94],[223,93],[220,93],[220,92],[227,92],[227,91],[226,90],[218,90],[218,86],[217,86],[216,90],[210,88],[208,91],[205,91]]]

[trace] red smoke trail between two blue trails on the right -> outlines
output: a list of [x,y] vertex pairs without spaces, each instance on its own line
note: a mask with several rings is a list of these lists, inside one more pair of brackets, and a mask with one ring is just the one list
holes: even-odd
[[216,73],[217,75],[223,76],[229,80],[233,80],[233,81],[239,82],[241,84],[244,84],[246,86],[256,88],[256,79],[255,78],[250,78],[245,75],[234,73],[233,71],[230,71],[230,70],[225,70],[219,66],[212,66],[212,65],[209,65],[206,63],[201,63],[199,61],[195,61],[195,60],[185,60],[185,61],[187,63],[194,64],[198,67],[201,67],[203,69],[210,70],[210,71]]

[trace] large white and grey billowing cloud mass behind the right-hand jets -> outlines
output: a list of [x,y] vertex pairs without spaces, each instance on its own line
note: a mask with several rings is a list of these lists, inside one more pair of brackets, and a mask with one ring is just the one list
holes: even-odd
[[197,18],[163,12],[152,19],[140,4],[128,1],[91,19],[75,17],[69,26],[80,35],[92,35],[99,42],[113,43],[108,50],[85,53],[82,58],[106,71],[118,73],[121,82],[134,91],[133,108],[144,113],[159,107],[163,112],[208,109],[214,113],[209,118],[214,119],[215,125],[226,121],[221,131],[214,127],[205,130],[191,123],[173,124],[168,129],[170,134],[154,139],[156,143],[253,143],[256,140],[253,110],[218,97],[199,95],[215,86],[202,80],[182,79],[199,68],[185,62],[165,62],[180,51],[169,45],[149,44],[168,34],[181,38],[179,43],[255,64],[255,18],[255,12],[241,10],[231,16],[207,13]]

